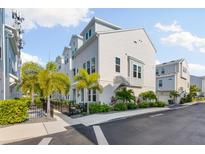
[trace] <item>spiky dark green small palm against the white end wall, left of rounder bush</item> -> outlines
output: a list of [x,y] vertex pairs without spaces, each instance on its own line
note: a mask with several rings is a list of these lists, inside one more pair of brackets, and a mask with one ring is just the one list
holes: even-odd
[[132,89],[120,88],[116,91],[117,100],[122,100],[124,103],[135,101],[134,92]]

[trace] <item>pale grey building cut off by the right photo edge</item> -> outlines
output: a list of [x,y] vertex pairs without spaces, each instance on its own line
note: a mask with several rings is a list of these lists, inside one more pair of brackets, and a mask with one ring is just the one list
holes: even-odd
[[201,92],[198,95],[205,96],[205,77],[204,76],[190,76],[190,85],[196,85]]

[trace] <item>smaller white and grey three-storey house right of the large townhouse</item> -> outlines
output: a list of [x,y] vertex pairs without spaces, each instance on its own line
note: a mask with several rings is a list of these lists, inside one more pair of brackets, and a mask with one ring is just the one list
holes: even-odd
[[156,66],[156,92],[158,99],[169,102],[169,93],[172,90],[179,92],[180,98],[189,92],[190,75],[185,59],[173,60]]

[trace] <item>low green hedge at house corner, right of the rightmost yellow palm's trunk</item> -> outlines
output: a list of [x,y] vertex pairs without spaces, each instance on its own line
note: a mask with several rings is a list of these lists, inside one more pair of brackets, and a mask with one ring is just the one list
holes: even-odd
[[110,106],[107,104],[90,103],[89,110],[90,110],[90,113],[109,112]]

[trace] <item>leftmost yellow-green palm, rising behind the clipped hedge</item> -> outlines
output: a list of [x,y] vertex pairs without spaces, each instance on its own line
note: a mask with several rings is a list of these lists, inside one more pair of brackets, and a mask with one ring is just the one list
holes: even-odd
[[34,62],[24,63],[21,67],[21,83],[19,87],[25,94],[30,94],[32,104],[34,104],[34,94],[40,92],[38,84],[38,74],[42,67]]

